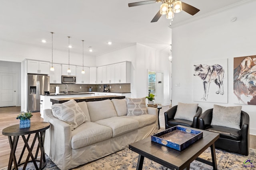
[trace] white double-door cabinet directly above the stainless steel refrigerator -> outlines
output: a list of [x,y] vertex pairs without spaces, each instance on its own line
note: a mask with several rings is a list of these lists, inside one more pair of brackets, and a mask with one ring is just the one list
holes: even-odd
[[47,61],[28,61],[28,73],[32,74],[49,74],[50,73],[50,65]]

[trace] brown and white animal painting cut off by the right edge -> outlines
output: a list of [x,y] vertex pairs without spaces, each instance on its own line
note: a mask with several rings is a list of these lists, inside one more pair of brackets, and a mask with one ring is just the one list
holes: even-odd
[[234,58],[234,103],[256,105],[256,55]]

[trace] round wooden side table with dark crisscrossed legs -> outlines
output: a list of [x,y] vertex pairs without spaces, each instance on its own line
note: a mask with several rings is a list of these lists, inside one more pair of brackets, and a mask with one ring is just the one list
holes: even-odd
[[[50,123],[48,123],[48,122],[31,122],[31,125],[28,128],[20,129],[20,125],[18,124],[18,125],[12,125],[12,126],[9,126],[9,127],[6,127],[3,129],[2,134],[8,136],[10,147],[11,147],[8,170],[11,170],[12,162],[14,162],[15,170],[18,170],[18,166],[20,166],[22,164],[24,164],[23,169],[25,169],[28,162],[33,162],[36,170],[41,170],[46,166],[46,158],[45,158],[45,154],[44,154],[44,137],[45,137],[45,131],[49,127],[50,127]],[[29,146],[28,140],[30,138],[30,135],[33,133],[35,133],[35,137],[33,139],[31,146]],[[25,135],[28,135],[27,138],[25,137]],[[22,139],[24,141],[24,147],[22,149],[20,158],[17,163],[15,151],[16,151],[18,140],[19,140],[20,136],[22,136]],[[35,156],[33,156],[32,150],[34,148],[36,139],[38,139],[38,147],[36,149]],[[28,150],[28,156],[26,158],[26,161],[21,163],[21,159],[22,159],[25,149]],[[40,155],[40,160],[37,160],[39,149],[40,149],[41,155]],[[29,161],[30,157],[32,160]],[[36,162],[40,162],[39,168],[38,168]]]

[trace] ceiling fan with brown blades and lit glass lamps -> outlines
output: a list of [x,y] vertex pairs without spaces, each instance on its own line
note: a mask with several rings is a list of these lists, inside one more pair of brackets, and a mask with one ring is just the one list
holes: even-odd
[[146,4],[153,4],[156,2],[162,2],[162,5],[160,6],[160,10],[154,16],[151,22],[157,22],[159,18],[164,14],[166,14],[167,19],[172,19],[174,18],[174,13],[181,12],[182,10],[192,16],[200,11],[194,6],[186,4],[185,2],[181,2],[180,0],[147,0],[142,2],[129,3],[128,6],[133,7]]

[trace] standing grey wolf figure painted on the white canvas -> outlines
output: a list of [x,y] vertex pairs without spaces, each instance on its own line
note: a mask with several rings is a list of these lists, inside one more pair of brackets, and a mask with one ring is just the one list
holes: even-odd
[[194,65],[194,70],[194,76],[199,76],[203,82],[204,96],[201,98],[201,100],[207,100],[211,82],[214,82],[218,86],[216,94],[224,94],[223,78],[225,70],[221,65],[214,64],[210,66],[206,64],[198,64]]

